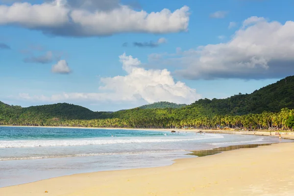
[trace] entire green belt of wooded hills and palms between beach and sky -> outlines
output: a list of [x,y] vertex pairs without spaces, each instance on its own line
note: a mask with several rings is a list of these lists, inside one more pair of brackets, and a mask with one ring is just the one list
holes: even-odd
[[[199,99],[187,106],[157,102],[117,112],[93,112],[57,103],[22,108],[0,102],[0,124],[83,127],[287,128],[294,121],[294,76],[224,99]],[[293,124],[294,125],[294,124]]]

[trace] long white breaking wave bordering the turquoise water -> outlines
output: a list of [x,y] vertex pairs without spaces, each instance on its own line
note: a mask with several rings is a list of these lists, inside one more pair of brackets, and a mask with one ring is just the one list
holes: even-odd
[[223,138],[222,135],[209,135],[206,137],[195,138],[152,138],[152,139],[77,139],[77,140],[13,140],[0,141],[0,148],[10,147],[63,147],[63,146],[87,146],[87,145],[109,145],[109,144],[130,144],[130,143],[162,143],[162,142],[181,142],[193,140],[209,140]]

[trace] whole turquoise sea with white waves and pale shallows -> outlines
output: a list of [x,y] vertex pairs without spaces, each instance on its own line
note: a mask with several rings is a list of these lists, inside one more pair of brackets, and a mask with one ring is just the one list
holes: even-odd
[[189,150],[289,142],[180,131],[0,126],[0,187],[75,173],[167,166]]

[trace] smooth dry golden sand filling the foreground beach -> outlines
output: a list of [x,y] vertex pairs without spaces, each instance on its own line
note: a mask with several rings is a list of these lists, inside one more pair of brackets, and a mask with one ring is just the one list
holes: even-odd
[[293,151],[294,143],[282,143],[166,167],[74,174],[0,188],[0,196],[294,196]]

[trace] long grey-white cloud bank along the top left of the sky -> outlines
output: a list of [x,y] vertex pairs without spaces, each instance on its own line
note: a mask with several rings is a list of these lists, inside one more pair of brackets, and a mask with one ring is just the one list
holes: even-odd
[[[93,10],[94,9],[94,10]],[[18,25],[60,36],[107,36],[115,33],[185,31],[189,7],[147,13],[118,0],[55,0],[41,4],[0,5],[0,25]]]

